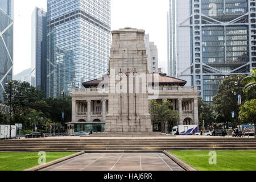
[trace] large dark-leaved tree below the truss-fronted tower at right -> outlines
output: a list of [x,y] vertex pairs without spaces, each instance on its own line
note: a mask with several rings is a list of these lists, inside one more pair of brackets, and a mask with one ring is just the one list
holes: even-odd
[[[237,95],[241,95],[242,104],[246,101],[246,97],[242,94],[244,83],[241,82],[245,75],[231,75],[226,77],[218,87],[218,93],[213,97],[214,101],[214,110],[216,111],[215,115],[217,120],[222,119],[221,122],[232,122],[233,126],[238,125],[238,98]],[[235,84],[238,82],[238,85]],[[234,93],[237,93],[236,96]],[[235,120],[232,118],[232,112],[235,113]]]

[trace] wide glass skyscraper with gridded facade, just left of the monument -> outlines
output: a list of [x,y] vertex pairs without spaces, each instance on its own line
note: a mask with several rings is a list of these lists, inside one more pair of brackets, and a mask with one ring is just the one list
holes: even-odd
[[47,97],[108,72],[110,0],[47,1]]

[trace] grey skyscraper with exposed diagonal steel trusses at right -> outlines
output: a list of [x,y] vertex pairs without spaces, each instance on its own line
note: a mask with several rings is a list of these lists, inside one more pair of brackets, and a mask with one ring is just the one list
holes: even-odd
[[[256,67],[256,5],[253,0],[170,0],[174,7],[176,76],[197,86],[213,103],[225,76]],[[171,22],[171,20],[170,20]],[[171,61],[170,61],[171,62]]]

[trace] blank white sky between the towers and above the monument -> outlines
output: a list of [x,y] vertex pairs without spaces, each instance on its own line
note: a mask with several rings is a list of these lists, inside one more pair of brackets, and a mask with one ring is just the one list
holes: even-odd
[[[169,0],[111,0],[111,4],[112,30],[145,30],[158,46],[159,67],[167,72]],[[14,0],[14,75],[31,67],[31,14],[35,6],[47,10],[47,0]]]

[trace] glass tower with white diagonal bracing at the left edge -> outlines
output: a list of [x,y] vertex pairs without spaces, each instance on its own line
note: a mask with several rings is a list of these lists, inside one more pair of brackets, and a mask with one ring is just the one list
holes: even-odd
[[13,0],[0,0],[0,100],[13,79]]

